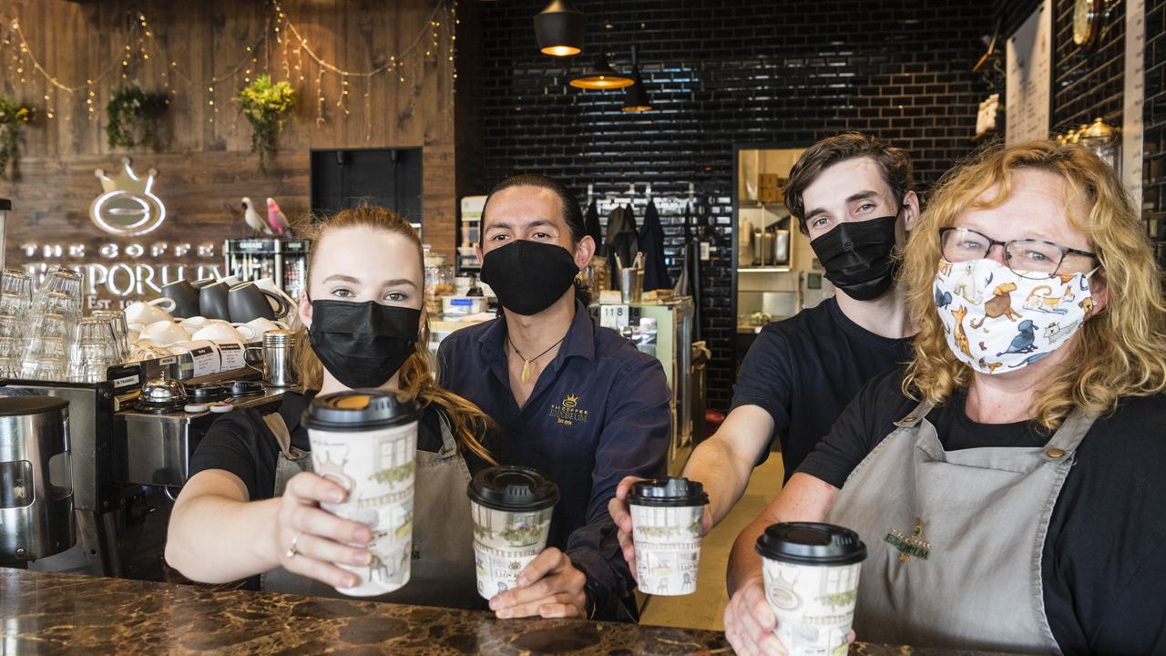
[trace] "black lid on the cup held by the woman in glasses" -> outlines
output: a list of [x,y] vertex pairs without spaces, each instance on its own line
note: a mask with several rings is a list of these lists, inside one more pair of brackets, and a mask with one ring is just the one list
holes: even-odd
[[815,522],[771,524],[757,538],[757,552],[799,565],[852,565],[866,559],[866,545],[858,533]]

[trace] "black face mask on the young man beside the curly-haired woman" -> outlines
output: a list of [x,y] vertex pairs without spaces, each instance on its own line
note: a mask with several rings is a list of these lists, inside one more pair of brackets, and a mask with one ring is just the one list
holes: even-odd
[[894,284],[898,215],[840,223],[809,243],[826,268],[826,279],[856,301],[874,300]]

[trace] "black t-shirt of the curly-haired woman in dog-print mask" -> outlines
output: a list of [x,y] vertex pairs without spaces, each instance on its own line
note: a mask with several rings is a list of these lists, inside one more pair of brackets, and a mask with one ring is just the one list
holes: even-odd
[[[799,472],[841,488],[914,410],[901,383],[902,369],[871,381]],[[956,395],[927,414],[946,451],[1039,447],[1051,438],[1028,421],[977,424],[965,400]],[[1067,655],[1166,654],[1166,396],[1122,399],[1097,418],[1076,459],[1041,558],[1053,636]]]

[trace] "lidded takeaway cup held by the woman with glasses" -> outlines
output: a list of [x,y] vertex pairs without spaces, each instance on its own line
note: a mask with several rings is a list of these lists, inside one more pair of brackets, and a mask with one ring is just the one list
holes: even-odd
[[[637,546],[637,549],[639,549]],[[866,545],[833,524],[773,524],[757,538],[774,635],[789,656],[845,654]]]

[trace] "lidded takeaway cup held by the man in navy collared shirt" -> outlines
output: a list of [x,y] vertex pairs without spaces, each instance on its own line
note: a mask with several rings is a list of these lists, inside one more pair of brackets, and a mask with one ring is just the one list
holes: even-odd
[[468,494],[478,594],[490,599],[514,587],[547,546],[559,486],[528,467],[500,466],[478,472]]

